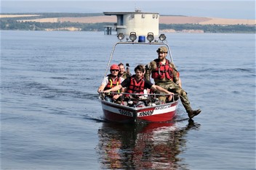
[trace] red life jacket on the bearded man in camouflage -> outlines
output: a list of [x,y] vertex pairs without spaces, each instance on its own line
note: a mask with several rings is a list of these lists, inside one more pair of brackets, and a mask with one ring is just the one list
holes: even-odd
[[159,59],[155,59],[154,61],[156,62],[156,69],[152,71],[151,77],[153,79],[162,80],[166,78],[168,80],[172,80],[173,69],[169,66],[169,60],[167,59],[165,64],[160,64]]

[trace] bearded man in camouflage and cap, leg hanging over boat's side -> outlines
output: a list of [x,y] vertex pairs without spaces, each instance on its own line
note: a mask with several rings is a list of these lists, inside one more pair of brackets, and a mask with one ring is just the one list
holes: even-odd
[[[181,88],[179,72],[177,72],[175,65],[166,59],[168,53],[167,47],[161,46],[156,52],[159,57],[146,65],[145,78],[150,80],[151,76],[156,85],[159,85],[161,88],[171,91],[172,93],[179,94],[180,101],[183,103],[190,119],[193,118],[193,116],[200,114],[200,109],[196,111],[192,110],[187,93]],[[166,100],[163,97],[159,99]]]

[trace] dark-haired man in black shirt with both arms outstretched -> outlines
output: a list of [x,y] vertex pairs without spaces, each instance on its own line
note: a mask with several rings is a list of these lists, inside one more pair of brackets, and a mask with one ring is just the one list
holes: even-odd
[[143,65],[138,65],[135,67],[135,75],[132,75],[132,77],[128,77],[123,82],[121,82],[121,85],[116,85],[114,88],[104,90],[104,93],[109,93],[111,91],[116,91],[121,88],[127,88],[127,93],[141,93],[143,94],[144,89],[150,89],[153,90],[159,90],[161,92],[167,93],[169,95],[172,95],[173,93],[169,92],[168,90],[165,90],[164,88],[161,88],[158,85],[153,85],[152,82],[149,80],[146,80],[143,76],[145,72],[145,69]]

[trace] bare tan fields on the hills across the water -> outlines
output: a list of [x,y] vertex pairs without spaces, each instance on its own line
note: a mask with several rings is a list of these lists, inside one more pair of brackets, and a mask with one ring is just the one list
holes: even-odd
[[[40,14],[0,14],[0,19],[16,18],[16,17],[40,17]],[[38,19],[25,19],[20,21],[22,22],[100,23],[100,22],[116,22],[116,16],[103,15],[103,16],[88,16],[88,17],[43,17]],[[256,20],[163,15],[159,17],[159,24],[256,25]]]

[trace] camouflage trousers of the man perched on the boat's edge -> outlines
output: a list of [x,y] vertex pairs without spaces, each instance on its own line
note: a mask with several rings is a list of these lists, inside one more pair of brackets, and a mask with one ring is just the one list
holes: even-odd
[[[185,92],[185,90],[180,88],[180,86],[177,85],[175,82],[156,82],[156,85],[159,85],[161,88],[164,88],[164,89],[168,90],[169,92],[178,94],[180,96],[180,101],[183,103],[185,111],[187,111],[187,113],[189,111],[192,111],[191,104],[188,100],[187,93]],[[159,100],[165,101],[165,98],[166,98],[165,96],[160,96]]]

